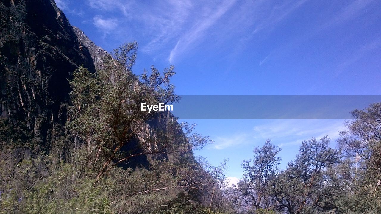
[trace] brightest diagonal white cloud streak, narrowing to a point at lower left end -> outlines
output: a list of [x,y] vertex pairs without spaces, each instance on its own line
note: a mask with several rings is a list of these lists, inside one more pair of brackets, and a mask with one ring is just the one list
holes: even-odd
[[212,26],[216,21],[218,21],[223,14],[228,11],[232,5],[234,5],[235,0],[229,1],[226,0],[220,4],[217,10],[214,13],[211,13],[209,16],[206,16],[205,19],[200,20],[195,26],[193,26],[186,34],[184,34],[176,43],[174,48],[170,52],[169,61],[172,62],[178,54],[183,53],[191,45],[204,36],[204,31]]

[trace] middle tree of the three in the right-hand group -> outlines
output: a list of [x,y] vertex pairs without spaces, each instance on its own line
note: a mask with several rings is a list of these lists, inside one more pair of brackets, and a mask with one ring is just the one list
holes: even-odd
[[289,214],[326,211],[321,203],[331,195],[326,191],[327,169],[339,161],[338,151],[328,146],[330,141],[328,137],[303,141],[295,161],[288,163],[287,169],[274,179],[272,194],[279,211]]

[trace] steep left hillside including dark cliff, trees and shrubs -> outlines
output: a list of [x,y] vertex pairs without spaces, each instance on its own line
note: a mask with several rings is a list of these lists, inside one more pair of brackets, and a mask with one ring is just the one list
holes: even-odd
[[205,211],[215,181],[192,149],[208,139],[136,110],[174,96],[157,70],[144,82],[126,67],[136,43],[107,53],[53,0],[1,0],[0,18],[0,213]]

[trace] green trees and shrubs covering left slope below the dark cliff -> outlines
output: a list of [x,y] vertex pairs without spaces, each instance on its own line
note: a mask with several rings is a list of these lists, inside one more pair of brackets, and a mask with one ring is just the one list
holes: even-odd
[[200,195],[214,180],[192,150],[210,141],[168,112],[140,110],[141,102],[179,97],[169,81],[173,67],[151,67],[139,81],[131,70],[136,50],[127,43],[103,70],[73,73],[68,121],[50,130],[48,155],[33,149],[25,127],[0,121],[0,214],[207,213]]

